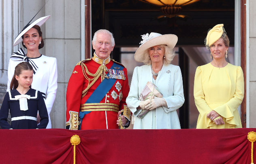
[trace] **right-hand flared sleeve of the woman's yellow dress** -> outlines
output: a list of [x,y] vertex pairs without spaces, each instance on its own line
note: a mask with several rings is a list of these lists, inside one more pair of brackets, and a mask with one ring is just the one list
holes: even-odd
[[216,107],[213,110],[220,114],[220,116],[226,118],[227,123],[239,126],[241,125],[241,120],[239,120],[240,118],[236,118],[237,114],[234,114],[234,112],[238,113],[237,107],[239,107],[243,101],[244,80],[243,70],[241,67],[237,68],[237,79],[231,80],[236,80],[235,94],[227,103]]

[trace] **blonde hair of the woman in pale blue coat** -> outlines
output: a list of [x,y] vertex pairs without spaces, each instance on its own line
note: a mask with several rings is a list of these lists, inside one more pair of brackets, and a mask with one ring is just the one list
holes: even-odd
[[[175,49],[171,49],[169,46],[167,46],[166,44],[162,44],[162,45],[158,45],[161,47],[164,47],[164,54],[165,54],[165,58],[163,58],[163,62],[164,65],[168,65],[171,63],[171,61],[173,61],[173,58],[175,57]],[[147,48],[144,53],[144,60],[143,63],[146,65],[151,65],[152,61],[151,59],[149,59],[149,48]]]

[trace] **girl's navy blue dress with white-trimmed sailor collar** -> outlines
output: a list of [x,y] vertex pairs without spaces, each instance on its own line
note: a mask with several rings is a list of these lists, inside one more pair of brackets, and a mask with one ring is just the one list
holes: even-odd
[[[11,95],[11,96],[10,96]],[[19,100],[15,100],[15,96],[21,95],[16,89],[7,92],[0,109],[0,126],[2,129],[42,129],[46,128],[49,118],[45,101],[42,94],[38,90],[30,88],[25,95],[30,95],[27,99],[28,110],[20,110]],[[9,109],[11,113],[11,126],[7,122]],[[40,124],[36,123],[37,111],[41,118]],[[26,117],[25,117],[26,116]]]

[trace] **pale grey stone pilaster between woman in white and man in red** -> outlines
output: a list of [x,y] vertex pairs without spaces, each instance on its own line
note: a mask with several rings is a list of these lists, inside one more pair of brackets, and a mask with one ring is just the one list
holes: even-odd
[[45,6],[45,55],[57,58],[58,90],[51,110],[52,128],[65,128],[66,88],[81,60],[81,1],[52,0]]

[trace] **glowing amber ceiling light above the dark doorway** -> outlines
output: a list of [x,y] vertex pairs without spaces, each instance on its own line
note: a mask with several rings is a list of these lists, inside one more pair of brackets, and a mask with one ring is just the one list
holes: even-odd
[[161,12],[170,16],[175,16],[181,12],[182,6],[192,4],[199,0],[140,0],[142,2],[154,4],[156,6],[162,6]]

